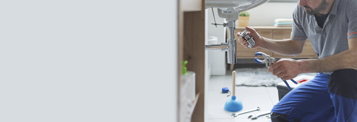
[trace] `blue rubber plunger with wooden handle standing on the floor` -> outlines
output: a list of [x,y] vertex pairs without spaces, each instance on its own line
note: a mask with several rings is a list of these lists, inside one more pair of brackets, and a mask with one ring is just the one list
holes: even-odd
[[232,97],[226,101],[224,104],[224,110],[230,112],[236,112],[243,109],[242,101],[235,97],[235,71],[232,72],[233,77],[233,87],[232,87]]

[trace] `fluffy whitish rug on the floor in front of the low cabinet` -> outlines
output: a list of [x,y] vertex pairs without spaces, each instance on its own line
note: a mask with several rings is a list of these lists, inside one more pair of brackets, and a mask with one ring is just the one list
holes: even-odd
[[[280,78],[266,71],[267,68],[241,68],[236,69],[236,86],[276,86],[282,82]],[[304,75],[315,76],[316,73],[303,73]],[[303,75],[299,74],[299,75]],[[288,81],[289,82],[289,81]]]

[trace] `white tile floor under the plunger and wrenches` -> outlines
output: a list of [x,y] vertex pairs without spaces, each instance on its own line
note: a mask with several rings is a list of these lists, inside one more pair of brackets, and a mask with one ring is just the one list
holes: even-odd
[[[229,71],[228,71],[229,72]],[[239,79],[237,79],[239,80]],[[260,107],[260,111],[254,111],[246,114],[239,115],[237,117],[230,116],[233,112],[225,111],[224,104],[230,98],[228,94],[222,93],[222,87],[228,87],[232,89],[232,76],[211,76],[208,82],[207,97],[207,116],[205,121],[208,122],[233,122],[233,121],[256,121],[256,122],[268,122],[270,118],[265,116],[258,117],[257,119],[248,119],[249,114],[257,114],[265,111],[269,111],[273,106],[278,103],[278,89],[276,87],[247,87],[236,86],[235,96],[243,103],[243,109],[250,110],[256,107]]]

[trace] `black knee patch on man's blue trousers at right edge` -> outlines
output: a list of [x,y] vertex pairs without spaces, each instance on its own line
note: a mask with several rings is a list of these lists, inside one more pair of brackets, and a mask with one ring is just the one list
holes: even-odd
[[357,99],[357,70],[334,71],[329,79],[329,92],[349,99]]

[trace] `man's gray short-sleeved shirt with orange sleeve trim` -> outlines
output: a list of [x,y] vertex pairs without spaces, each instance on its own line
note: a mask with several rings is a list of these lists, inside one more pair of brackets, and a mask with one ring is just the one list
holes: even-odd
[[297,4],[293,13],[291,40],[303,41],[309,38],[319,58],[347,50],[348,39],[355,37],[357,37],[356,0],[335,0],[323,28],[318,26],[314,15],[307,14],[304,7],[299,7],[299,3]]

